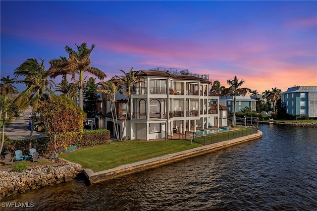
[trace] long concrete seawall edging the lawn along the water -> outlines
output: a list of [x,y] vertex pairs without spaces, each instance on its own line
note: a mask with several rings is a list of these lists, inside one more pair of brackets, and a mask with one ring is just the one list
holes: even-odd
[[85,176],[89,180],[90,184],[100,183],[115,177],[134,173],[137,171],[142,171],[149,168],[154,168],[159,165],[164,165],[170,162],[175,162],[175,161],[179,161],[186,158],[203,155],[211,151],[219,150],[219,149],[229,147],[235,144],[240,144],[242,142],[255,140],[255,139],[261,138],[262,134],[263,134],[262,131],[258,130],[258,133],[252,134],[249,136],[244,136],[244,137],[240,137],[240,138],[236,138],[236,139],[232,139],[228,141],[222,141],[222,142],[194,148],[191,150],[186,150],[186,151],[182,151],[178,153],[161,156],[158,158],[151,158],[151,159],[142,160],[135,163],[120,165],[118,167],[111,168],[104,171],[94,172],[90,168],[85,168],[83,169],[83,171]]

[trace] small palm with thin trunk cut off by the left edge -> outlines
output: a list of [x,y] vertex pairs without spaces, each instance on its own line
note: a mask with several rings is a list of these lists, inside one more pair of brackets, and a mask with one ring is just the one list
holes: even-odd
[[13,117],[19,118],[19,106],[12,102],[10,98],[3,98],[0,96],[0,119],[3,119],[2,123],[2,138],[1,138],[1,149],[0,154],[2,152],[3,143],[4,143],[4,126],[5,119],[8,118],[9,121],[13,119]]

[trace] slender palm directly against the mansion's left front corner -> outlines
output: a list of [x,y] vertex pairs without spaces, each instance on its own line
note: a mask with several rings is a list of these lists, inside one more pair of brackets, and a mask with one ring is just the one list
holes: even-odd
[[[133,72],[133,67],[130,69],[130,71],[128,73],[126,73],[123,70],[120,70],[120,71],[123,72],[124,75],[122,75],[122,76],[120,76],[118,78],[119,78],[120,83],[125,87],[124,89],[126,90],[126,92],[124,93],[124,95],[126,97],[128,97],[127,109],[126,109],[125,119],[124,119],[124,126],[122,128],[122,134],[124,134],[125,129],[126,129],[126,121],[127,121],[127,116],[128,116],[128,110],[129,110],[129,101],[130,101],[130,96],[131,96],[131,88],[138,81],[140,81],[140,77],[135,75],[135,73]],[[122,141],[122,139],[123,139],[123,136],[121,137],[121,141]]]

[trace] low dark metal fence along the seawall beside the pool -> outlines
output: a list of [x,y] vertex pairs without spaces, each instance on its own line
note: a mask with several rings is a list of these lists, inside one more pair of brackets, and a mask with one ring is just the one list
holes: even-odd
[[[201,136],[197,133],[186,132],[186,140],[193,141],[202,145],[214,144],[221,141],[231,140],[243,136],[248,136],[258,132],[258,127],[248,127],[246,130],[234,130],[223,133],[216,133],[210,135]],[[191,138],[188,138],[191,137]]]

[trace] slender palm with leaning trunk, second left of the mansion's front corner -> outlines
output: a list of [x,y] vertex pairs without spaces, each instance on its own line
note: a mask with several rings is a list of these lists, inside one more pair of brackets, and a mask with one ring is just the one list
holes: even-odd
[[[120,84],[117,84],[117,79],[115,79],[115,78],[112,78],[111,80],[108,80],[106,82],[102,81],[102,82],[98,83],[98,85],[100,85],[100,87],[98,88],[98,91],[101,93],[105,93],[107,95],[108,101],[110,101],[110,111],[111,111],[111,115],[112,115],[112,119],[113,119],[114,132],[115,132],[117,141],[120,141],[119,131],[117,128],[118,118],[117,118],[117,112],[116,112],[116,108],[115,108],[115,95],[118,92],[120,92],[121,86],[120,86]],[[113,115],[112,106],[114,106],[115,115]]]

